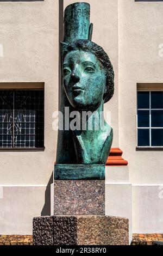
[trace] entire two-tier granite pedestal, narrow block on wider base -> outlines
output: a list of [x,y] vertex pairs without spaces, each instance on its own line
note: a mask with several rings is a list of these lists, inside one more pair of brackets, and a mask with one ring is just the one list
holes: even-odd
[[105,216],[105,180],[54,180],[53,216],[33,219],[34,245],[128,245],[127,218]]

